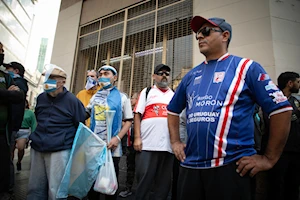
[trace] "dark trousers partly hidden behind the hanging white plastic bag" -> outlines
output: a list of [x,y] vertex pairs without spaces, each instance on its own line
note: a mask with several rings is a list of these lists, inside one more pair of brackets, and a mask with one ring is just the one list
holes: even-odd
[[[116,176],[117,176],[117,180],[119,177],[119,162],[120,162],[120,158],[119,157],[113,157],[113,162],[114,162],[114,167],[115,167],[115,172],[116,172]],[[119,181],[118,181],[119,183]],[[89,200],[116,200],[117,199],[117,192],[114,195],[102,195],[99,192],[96,192],[94,190],[94,185],[92,186],[92,188],[90,189],[89,193],[88,193],[88,198]],[[105,198],[103,198],[105,197]]]

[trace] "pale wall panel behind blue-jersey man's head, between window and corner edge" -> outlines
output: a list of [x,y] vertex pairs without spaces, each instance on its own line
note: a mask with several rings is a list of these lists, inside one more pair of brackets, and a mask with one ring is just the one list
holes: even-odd
[[[194,15],[222,17],[232,26],[229,53],[259,62],[275,75],[269,0],[195,0]],[[204,57],[194,45],[194,65]]]

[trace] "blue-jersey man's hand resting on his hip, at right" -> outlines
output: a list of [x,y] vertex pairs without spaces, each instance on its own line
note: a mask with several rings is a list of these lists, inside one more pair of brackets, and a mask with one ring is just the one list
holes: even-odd
[[248,172],[251,177],[255,176],[260,171],[266,171],[271,169],[276,162],[270,160],[265,155],[253,155],[253,156],[245,156],[237,161],[237,169],[236,172],[240,174],[240,176],[245,176]]

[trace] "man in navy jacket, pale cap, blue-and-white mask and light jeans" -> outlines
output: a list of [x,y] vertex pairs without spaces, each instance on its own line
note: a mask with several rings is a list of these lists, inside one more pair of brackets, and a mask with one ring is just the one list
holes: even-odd
[[54,200],[64,175],[77,127],[85,121],[85,108],[65,87],[67,74],[55,65],[44,73],[37,97],[37,127],[30,135],[31,170],[28,200]]

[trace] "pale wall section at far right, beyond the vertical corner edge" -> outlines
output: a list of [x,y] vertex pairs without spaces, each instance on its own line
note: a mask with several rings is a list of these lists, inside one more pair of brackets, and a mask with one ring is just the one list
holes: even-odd
[[300,73],[300,1],[270,0],[276,77],[284,71]]

